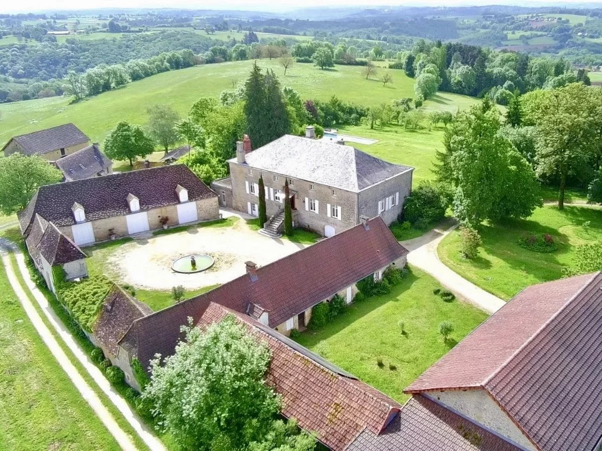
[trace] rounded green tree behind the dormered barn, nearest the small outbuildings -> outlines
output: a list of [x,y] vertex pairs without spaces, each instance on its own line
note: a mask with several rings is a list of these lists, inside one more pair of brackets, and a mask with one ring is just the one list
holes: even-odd
[[133,166],[135,158],[144,158],[155,150],[155,142],[142,127],[121,121],[105,139],[103,149],[108,158],[127,160]]

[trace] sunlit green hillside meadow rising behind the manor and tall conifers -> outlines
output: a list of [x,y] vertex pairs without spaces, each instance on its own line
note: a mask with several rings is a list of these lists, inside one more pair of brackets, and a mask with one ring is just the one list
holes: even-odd
[[[5,103],[0,105],[0,143],[15,135],[67,122],[75,123],[93,141],[102,141],[120,120],[146,123],[146,108],[156,103],[171,105],[180,114],[186,114],[199,97],[218,96],[231,89],[232,81],[246,79],[252,64],[252,61],[237,61],[161,73],[72,105],[62,97]],[[392,70],[393,85],[383,87],[377,80],[362,78],[362,69],[356,66],[320,70],[311,64],[295,64],[284,76],[276,60],[261,60],[259,65],[273,69],[282,85],[295,88],[303,98],[326,100],[336,94],[340,99],[378,105],[399,97],[414,97],[414,80],[400,70]],[[476,101],[458,94],[439,93],[425,103],[425,108],[455,111],[458,106],[462,108]]]

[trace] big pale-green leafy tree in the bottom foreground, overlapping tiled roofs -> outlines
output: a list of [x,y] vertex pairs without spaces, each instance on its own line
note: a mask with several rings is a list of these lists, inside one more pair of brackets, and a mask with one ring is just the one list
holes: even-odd
[[270,432],[280,397],[265,383],[265,342],[233,315],[205,331],[185,329],[175,354],[151,361],[143,399],[181,449],[246,449]]

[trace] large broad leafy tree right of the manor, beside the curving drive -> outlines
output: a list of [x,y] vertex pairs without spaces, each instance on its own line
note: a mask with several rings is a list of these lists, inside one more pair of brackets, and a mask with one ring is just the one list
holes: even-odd
[[496,108],[474,105],[462,111],[445,131],[447,152],[438,167],[448,165],[439,180],[456,190],[453,210],[472,225],[484,219],[526,218],[542,204],[535,171],[500,131]]

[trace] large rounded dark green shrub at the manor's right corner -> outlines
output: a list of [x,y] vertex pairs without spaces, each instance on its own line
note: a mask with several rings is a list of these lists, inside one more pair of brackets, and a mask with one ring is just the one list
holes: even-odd
[[421,183],[412,189],[412,194],[406,199],[403,215],[405,221],[421,229],[432,222],[441,221],[446,209],[446,197],[442,194],[442,188],[434,183]]

